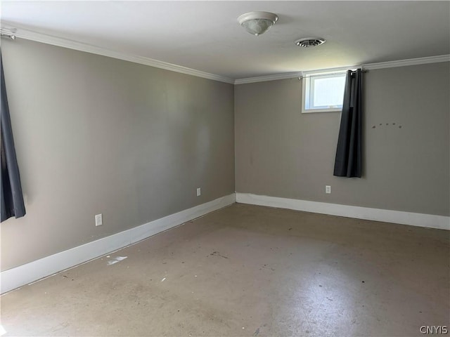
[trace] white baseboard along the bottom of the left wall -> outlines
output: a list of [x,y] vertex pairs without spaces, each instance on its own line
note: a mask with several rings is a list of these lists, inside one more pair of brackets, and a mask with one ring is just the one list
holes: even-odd
[[172,227],[186,223],[187,221],[204,216],[207,213],[224,208],[236,202],[236,194],[209,201],[191,209],[165,216],[158,220],[150,221],[144,225],[124,230],[123,232],[98,239],[82,246],[77,246],[67,251],[46,256],[19,267],[14,267],[0,273],[0,290],[6,293],[25,284],[30,284],[37,279],[66,270],[80,263],[98,258],[117,249],[124,248],[143,239],[151,237]]

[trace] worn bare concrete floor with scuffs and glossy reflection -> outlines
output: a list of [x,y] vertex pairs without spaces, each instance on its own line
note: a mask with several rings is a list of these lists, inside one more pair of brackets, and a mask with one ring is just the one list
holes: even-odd
[[449,268],[444,230],[233,204],[6,293],[1,324],[6,336],[423,336],[450,326]]

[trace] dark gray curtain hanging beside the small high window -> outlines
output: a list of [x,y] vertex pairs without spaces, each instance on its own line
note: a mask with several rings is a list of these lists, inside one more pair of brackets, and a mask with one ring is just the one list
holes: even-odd
[[361,178],[362,70],[349,70],[345,81],[334,175]]

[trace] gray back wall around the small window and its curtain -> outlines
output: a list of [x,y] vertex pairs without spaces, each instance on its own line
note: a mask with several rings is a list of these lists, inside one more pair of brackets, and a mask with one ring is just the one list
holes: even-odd
[[449,216],[449,74],[365,74],[361,179],[333,176],[340,113],[301,114],[301,81],[235,86],[236,192]]

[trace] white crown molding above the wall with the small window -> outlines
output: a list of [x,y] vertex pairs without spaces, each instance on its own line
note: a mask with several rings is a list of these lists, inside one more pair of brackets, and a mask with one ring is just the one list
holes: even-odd
[[274,74],[274,75],[259,76],[259,77],[248,77],[245,79],[236,79],[236,81],[234,81],[234,84],[246,84],[246,83],[255,83],[255,82],[262,82],[262,81],[275,81],[277,79],[292,79],[294,77],[302,77],[305,74],[311,74],[311,73],[315,73],[315,72],[332,72],[332,71],[336,71],[336,70],[354,69],[355,67],[361,67],[364,70],[377,70],[377,69],[394,68],[394,67],[406,67],[409,65],[426,65],[428,63],[437,63],[437,62],[450,62],[450,54],[449,55],[430,56],[427,58],[409,58],[407,60],[367,63],[366,65],[359,65],[359,66],[352,65],[352,66],[348,66],[348,67],[308,70],[308,71],[304,71],[304,72],[289,72],[289,73],[285,73],[285,74]]

